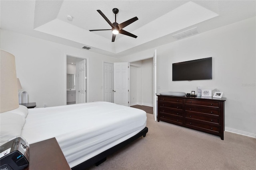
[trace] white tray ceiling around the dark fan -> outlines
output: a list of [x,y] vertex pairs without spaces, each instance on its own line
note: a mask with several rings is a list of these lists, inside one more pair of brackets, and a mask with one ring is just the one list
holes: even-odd
[[[110,25],[96,11],[114,22],[135,16],[138,20],[124,30],[137,35],[118,34],[111,42]],[[172,35],[197,27],[199,33],[256,16],[255,0],[1,0],[1,29],[46,39],[111,57],[122,57],[178,41]],[[67,15],[73,20],[67,19]],[[84,49],[86,50],[86,49]]]

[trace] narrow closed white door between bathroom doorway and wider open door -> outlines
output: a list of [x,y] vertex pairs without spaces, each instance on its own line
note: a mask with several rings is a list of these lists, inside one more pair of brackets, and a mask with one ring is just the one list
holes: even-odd
[[104,101],[114,103],[114,64],[103,64],[103,78],[104,78]]

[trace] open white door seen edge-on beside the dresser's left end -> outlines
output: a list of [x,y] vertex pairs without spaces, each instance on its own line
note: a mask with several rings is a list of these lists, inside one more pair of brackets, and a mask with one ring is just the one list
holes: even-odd
[[156,121],[157,105],[156,105],[156,50],[153,56],[153,115]]

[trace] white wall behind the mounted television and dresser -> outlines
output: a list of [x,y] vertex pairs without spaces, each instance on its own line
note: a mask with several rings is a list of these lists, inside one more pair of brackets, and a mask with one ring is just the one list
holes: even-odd
[[[200,29],[200,28],[199,28]],[[225,130],[250,137],[256,133],[256,18],[180,39],[157,49],[157,93],[196,91],[197,86],[224,92]],[[154,49],[123,57],[148,58]],[[212,57],[213,79],[172,82],[172,63]]]

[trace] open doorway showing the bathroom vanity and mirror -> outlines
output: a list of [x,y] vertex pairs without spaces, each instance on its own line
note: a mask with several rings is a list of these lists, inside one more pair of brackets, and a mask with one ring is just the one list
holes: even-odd
[[86,103],[86,59],[66,56],[67,105]]

